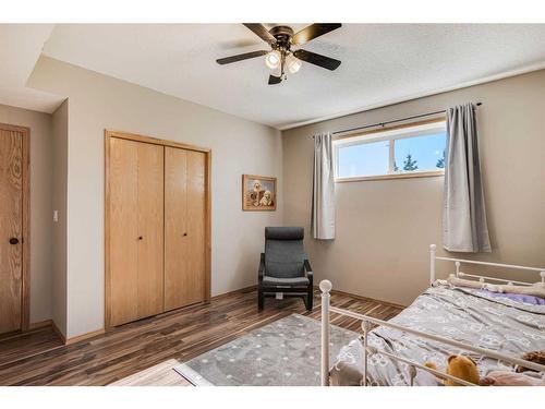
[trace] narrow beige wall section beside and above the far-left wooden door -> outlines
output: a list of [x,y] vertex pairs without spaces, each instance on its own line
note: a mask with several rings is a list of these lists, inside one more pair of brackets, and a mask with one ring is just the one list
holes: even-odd
[[0,105],[0,122],[31,129],[31,323],[51,318],[51,116]]

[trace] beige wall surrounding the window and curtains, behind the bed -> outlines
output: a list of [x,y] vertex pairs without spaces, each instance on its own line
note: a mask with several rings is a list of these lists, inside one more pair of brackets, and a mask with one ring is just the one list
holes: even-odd
[[[310,230],[313,133],[482,101],[479,131],[493,253],[474,257],[545,266],[544,95],[545,71],[538,71],[284,131],[284,224]],[[337,239],[306,243],[317,279],[410,303],[427,284],[428,244],[440,248],[443,177],[338,183],[336,201]]]

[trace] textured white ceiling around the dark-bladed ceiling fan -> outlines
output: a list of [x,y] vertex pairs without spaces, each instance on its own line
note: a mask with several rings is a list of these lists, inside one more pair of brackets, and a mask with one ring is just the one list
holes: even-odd
[[342,64],[330,72],[304,63],[267,85],[264,58],[215,62],[267,49],[240,24],[57,25],[44,53],[286,129],[543,67],[545,25],[346,24],[304,48]]

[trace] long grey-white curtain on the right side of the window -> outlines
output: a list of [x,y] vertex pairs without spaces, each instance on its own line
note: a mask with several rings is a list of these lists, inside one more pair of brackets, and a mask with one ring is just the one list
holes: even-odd
[[452,252],[491,252],[479,160],[476,107],[447,110],[443,245]]

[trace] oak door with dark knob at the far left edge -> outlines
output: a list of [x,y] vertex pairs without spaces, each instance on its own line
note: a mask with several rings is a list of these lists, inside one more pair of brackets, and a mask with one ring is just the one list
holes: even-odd
[[0,129],[0,333],[22,328],[23,134]]

